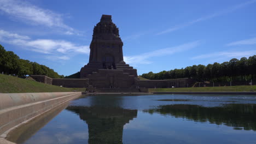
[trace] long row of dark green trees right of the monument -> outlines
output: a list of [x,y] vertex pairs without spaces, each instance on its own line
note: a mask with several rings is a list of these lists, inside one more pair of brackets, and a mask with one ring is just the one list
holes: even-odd
[[142,74],[142,77],[150,80],[191,78],[198,82],[228,82],[228,81],[249,81],[256,77],[256,55],[230,59],[229,62],[213,63],[208,65],[193,65],[182,69],[161,71]]

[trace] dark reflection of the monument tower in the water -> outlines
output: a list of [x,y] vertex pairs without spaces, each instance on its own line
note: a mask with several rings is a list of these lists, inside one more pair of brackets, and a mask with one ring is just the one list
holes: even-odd
[[77,113],[88,124],[88,143],[123,143],[123,127],[137,117],[137,110],[119,107],[69,106],[67,110]]

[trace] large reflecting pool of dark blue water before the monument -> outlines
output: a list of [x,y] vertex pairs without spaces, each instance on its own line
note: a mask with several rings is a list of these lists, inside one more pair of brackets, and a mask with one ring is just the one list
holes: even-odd
[[86,95],[16,129],[8,140],[256,143],[256,95]]

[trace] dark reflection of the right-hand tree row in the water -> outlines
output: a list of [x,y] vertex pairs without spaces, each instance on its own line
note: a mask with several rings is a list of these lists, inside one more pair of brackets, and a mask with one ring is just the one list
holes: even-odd
[[243,127],[245,130],[256,130],[256,104],[226,104],[222,107],[183,104],[161,105],[156,109],[144,110],[144,112],[183,117],[196,122],[208,121],[218,125]]

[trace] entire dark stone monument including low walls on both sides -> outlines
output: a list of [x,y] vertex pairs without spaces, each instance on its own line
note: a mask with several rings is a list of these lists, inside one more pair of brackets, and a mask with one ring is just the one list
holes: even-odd
[[80,79],[51,79],[31,75],[39,82],[63,87],[86,87],[96,92],[147,92],[147,88],[191,87],[191,79],[139,80],[137,70],[124,62],[123,42],[111,15],[102,15],[94,27],[89,63],[80,70]]

